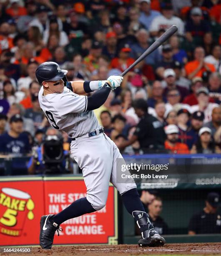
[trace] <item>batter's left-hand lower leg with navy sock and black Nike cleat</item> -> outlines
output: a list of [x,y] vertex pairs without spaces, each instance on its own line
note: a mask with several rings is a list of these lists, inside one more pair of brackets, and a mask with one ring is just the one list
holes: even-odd
[[[80,198],[56,215],[43,215],[40,220],[40,246],[51,249],[55,232],[62,231],[60,224],[85,213],[95,212],[86,197]],[[59,232],[58,232],[59,236]]]

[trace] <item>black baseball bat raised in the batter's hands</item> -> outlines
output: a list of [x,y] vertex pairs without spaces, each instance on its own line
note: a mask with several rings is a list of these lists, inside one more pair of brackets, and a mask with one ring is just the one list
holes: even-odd
[[142,61],[144,58],[146,58],[147,55],[151,54],[154,50],[156,50],[161,44],[163,44],[168,38],[170,38],[176,31],[177,31],[177,26],[173,25],[166,32],[163,33],[151,46],[146,49],[146,51],[136,60],[131,64],[130,67],[128,67],[124,72],[121,74],[121,77],[123,77],[125,74],[127,74],[131,69],[133,69],[136,64],[138,64],[140,61]]

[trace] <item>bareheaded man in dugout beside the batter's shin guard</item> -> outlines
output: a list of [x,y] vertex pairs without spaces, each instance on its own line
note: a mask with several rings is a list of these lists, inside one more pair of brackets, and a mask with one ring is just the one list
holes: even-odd
[[160,197],[156,197],[153,202],[151,202],[148,205],[148,215],[149,219],[153,223],[154,228],[157,230],[157,232],[162,234],[168,234],[168,225],[163,220],[163,218],[160,217],[161,211],[162,211],[163,203]]

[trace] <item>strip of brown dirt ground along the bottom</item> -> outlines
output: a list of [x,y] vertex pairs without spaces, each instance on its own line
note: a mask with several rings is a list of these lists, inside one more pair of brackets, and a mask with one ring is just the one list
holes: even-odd
[[127,255],[221,255],[221,243],[173,243],[163,247],[145,247],[136,245],[116,245],[116,246],[53,246],[51,250],[43,250],[40,247],[30,247],[30,253],[3,253],[0,255],[20,256],[40,255],[40,256],[127,256]]

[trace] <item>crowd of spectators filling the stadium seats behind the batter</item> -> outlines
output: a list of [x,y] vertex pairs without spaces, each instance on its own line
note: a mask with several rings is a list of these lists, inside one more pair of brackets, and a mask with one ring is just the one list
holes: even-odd
[[57,62],[68,81],[105,80],[174,24],[178,32],[95,115],[124,154],[220,153],[220,0],[2,0],[0,152],[30,153],[44,141],[38,64]]

